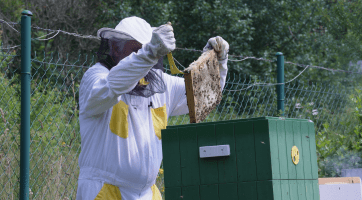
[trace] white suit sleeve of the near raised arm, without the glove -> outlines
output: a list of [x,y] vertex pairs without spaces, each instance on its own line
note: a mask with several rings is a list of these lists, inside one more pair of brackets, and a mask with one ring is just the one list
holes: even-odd
[[80,114],[94,116],[118,103],[117,98],[131,91],[158,59],[143,47],[108,70],[97,63],[84,74],[79,88]]

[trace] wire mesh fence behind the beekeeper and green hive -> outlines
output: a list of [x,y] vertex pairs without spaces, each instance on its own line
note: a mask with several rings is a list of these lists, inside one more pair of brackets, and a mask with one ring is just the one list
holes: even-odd
[[[197,53],[197,52],[196,52]],[[93,56],[37,54],[31,59],[30,199],[75,199],[80,153],[78,88]],[[169,72],[167,70],[167,72]],[[0,51],[0,199],[19,196],[20,56]],[[257,85],[259,83],[261,85]],[[228,74],[219,106],[205,119],[223,121],[280,116],[273,78]],[[246,89],[247,88],[247,89]],[[317,132],[331,124],[334,131],[350,131],[340,123],[351,117],[354,87],[309,84],[298,79],[285,85],[285,117],[315,122]],[[348,120],[347,120],[348,121]],[[188,115],[170,117],[168,125],[189,123]],[[157,185],[163,194],[162,170]]]

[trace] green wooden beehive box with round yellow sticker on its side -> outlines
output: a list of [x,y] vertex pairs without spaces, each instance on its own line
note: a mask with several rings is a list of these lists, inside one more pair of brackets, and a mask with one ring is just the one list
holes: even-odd
[[[200,158],[200,147],[230,155]],[[292,157],[298,149],[299,162]],[[294,148],[295,148],[294,147]],[[261,117],[162,130],[166,200],[319,200],[314,124]]]

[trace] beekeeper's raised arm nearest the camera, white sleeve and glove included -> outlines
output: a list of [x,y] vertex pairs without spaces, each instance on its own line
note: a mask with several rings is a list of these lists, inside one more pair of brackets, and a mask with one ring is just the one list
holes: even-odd
[[94,116],[117,104],[117,98],[131,91],[158,59],[175,49],[172,26],[162,25],[137,53],[122,59],[110,71],[99,63],[83,76],[79,89],[80,114]]

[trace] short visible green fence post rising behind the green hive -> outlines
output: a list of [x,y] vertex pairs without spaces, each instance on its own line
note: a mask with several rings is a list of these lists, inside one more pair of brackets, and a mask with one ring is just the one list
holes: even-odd
[[277,85],[277,100],[278,112],[282,111],[281,116],[284,116],[284,56],[283,53],[278,52],[277,56],[277,82],[282,83]]

